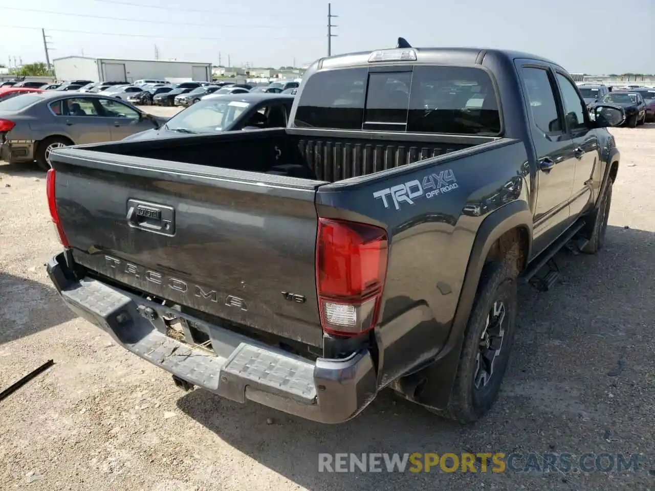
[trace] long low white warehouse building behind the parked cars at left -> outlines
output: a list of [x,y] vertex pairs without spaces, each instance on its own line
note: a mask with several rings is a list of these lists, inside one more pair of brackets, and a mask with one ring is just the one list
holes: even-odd
[[142,79],[212,81],[211,63],[160,62],[159,60],[110,60],[86,56],[65,56],[52,60],[58,80],[92,82],[135,82]]

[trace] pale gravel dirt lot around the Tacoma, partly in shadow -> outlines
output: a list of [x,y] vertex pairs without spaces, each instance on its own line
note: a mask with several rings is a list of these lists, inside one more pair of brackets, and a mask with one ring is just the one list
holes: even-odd
[[561,253],[553,291],[521,290],[500,399],[470,427],[390,393],[351,422],[321,426],[179,391],[65,308],[43,268],[60,249],[45,176],[0,164],[0,388],[56,361],[0,402],[0,489],[655,489],[647,470],[317,471],[318,452],[625,452],[655,469],[655,124],[612,132],[622,162],[607,245],[595,257]]

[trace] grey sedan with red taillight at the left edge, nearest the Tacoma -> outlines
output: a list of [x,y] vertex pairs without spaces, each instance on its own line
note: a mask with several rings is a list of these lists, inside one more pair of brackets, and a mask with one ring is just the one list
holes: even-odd
[[53,149],[121,140],[159,128],[166,118],[96,94],[48,91],[0,102],[0,160],[50,168]]

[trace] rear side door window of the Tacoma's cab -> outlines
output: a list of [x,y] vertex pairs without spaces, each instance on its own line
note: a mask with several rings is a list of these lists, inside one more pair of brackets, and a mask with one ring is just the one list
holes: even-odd
[[544,133],[561,132],[557,103],[548,71],[542,68],[523,67],[522,72],[534,125]]

